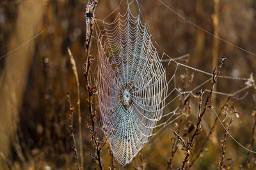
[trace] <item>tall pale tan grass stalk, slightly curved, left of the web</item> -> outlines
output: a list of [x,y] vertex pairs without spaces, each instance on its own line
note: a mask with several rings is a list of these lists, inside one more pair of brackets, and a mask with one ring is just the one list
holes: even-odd
[[[83,139],[82,139],[82,121],[81,121],[81,106],[80,106],[80,85],[78,80],[78,74],[76,69],[76,61],[68,48],[68,55],[70,57],[70,62],[72,64],[72,69],[74,72],[74,75],[76,77],[76,85],[77,85],[77,110],[78,110],[78,123],[79,123],[79,150],[80,150],[80,159],[81,159],[81,169],[84,169],[84,163],[83,163]],[[73,121],[73,120],[72,120]]]

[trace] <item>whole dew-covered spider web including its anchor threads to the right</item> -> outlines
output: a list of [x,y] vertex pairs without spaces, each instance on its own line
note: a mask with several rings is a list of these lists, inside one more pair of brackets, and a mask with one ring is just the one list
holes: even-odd
[[[95,19],[97,67],[93,69],[98,94],[102,131],[116,160],[123,166],[159,131],[184,115],[180,96],[196,96],[209,89],[212,73],[188,66],[188,55],[172,58],[160,52],[143,21],[136,1],[124,1],[106,18]],[[133,10],[131,6],[136,6]],[[115,17],[113,17],[115,15]],[[109,21],[112,20],[112,21]],[[191,80],[189,89],[182,89],[180,71],[186,69]],[[236,91],[214,92],[234,96],[250,88],[250,78],[220,76],[225,81],[241,81]],[[209,91],[209,90],[208,90]]]

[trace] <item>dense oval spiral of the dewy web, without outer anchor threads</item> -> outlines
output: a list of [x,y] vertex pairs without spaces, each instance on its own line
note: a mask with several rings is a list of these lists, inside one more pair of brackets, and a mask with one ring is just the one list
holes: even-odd
[[97,82],[105,81],[98,89],[99,108],[115,158],[125,165],[152,136],[163,115],[168,85],[140,16],[132,16],[128,8],[113,24],[116,27],[102,35],[105,44],[98,41]]

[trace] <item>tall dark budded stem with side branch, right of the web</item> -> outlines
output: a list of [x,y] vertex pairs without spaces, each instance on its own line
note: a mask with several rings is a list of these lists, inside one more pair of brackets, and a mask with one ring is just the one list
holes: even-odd
[[204,90],[201,91],[201,94],[200,94],[200,103],[199,103],[199,106],[198,106],[198,121],[196,123],[196,129],[195,129],[195,132],[191,138],[191,140],[189,141],[188,145],[186,146],[186,156],[185,156],[185,159],[183,160],[182,162],[182,170],[185,169],[185,166],[186,166],[186,163],[189,162],[189,156],[191,154],[191,152],[193,151],[193,148],[194,148],[194,143],[193,143],[193,140],[195,139],[195,137],[200,133],[200,130],[201,130],[201,122],[202,122],[202,117],[204,116],[206,110],[207,110],[207,107],[208,107],[208,104],[211,102],[211,99],[212,99],[212,93],[213,93],[213,90],[214,90],[214,85],[215,83],[217,82],[217,78],[220,74],[220,69],[221,69],[221,66],[223,65],[223,63],[225,62],[225,58],[221,58],[221,64],[220,66],[216,67],[212,73],[212,86],[211,86],[211,91],[210,91],[210,94],[209,96],[207,97],[206,101],[205,101],[205,105],[204,105],[204,110],[201,112],[201,106],[202,106],[202,96],[204,95]]

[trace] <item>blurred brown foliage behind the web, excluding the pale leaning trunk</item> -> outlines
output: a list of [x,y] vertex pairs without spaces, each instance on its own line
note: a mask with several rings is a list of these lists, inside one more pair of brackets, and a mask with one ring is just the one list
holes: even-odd
[[[30,0],[2,0],[0,2],[0,57],[10,52],[10,39],[15,29],[17,29],[19,6],[22,3],[31,3],[33,8],[35,2],[32,3]],[[212,71],[214,38],[211,35],[184,22],[157,0],[140,0],[139,2],[148,29],[150,29],[161,50],[168,52],[168,55],[172,57],[189,53],[189,66],[208,72]],[[179,0],[166,1],[165,3],[172,6],[175,11],[184,17],[195,22],[196,25],[211,33],[214,32],[212,22],[213,0]],[[84,168],[94,169],[97,167],[97,164],[90,157],[90,153],[94,153],[86,126],[86,122],[91,123],[86,101],[88,93],[83,76],[83,64],[86,59],[86,48],[84,47],[86,33],[84,12],[86,4],[87,1],[81,0],[49,0],[45,3],[43,24],[40,25],[38,30],[38,32],[44,31],[44,33],[35,39],[35,54],[31,67],[28,68],[28,81],[17,117],[17,131],[10,140],[10,154],[4,157],[6,167],[10,169],[76,169],[76,159],[72,148],[72,139],[70,138],[70,120],[68,119],[70,110],[67,102],[67,92],[70,92],[71,103],[75,106],[74,134],[78,138],[76,80],[68,59],[67,47],[70,47],[75,57],[80,81]],[[106,17],[117,6],[117,0],[99,1],[96,17]],[[256,53],[255,10],[256,1],[253,0],[220,0],[220,37]],[[28,22],[25,22],[24,25],[29,27],[29,17]],[[38,32],[34,32],[34,34]],[[22,34],[22,31],[20,34]],[[92,49],[92,55],[95,55],[95,57],[97,57],[97,53],[93,52],[96,51],[96,49]],[[19,54],[19,50],[15,53]],[[221,74],[247,78],[249,78],[250,73],[256,74],[256,56],[250,53],[220,41],[218,56],[226,56],[228,59],[221,69]],[[0,87],[8,57],[9,55],[0,59]],[[22,53],[20,53],[20,57],[24,57]],[[166,70],[167,73],[168,71],[170,72],[171,69]],[[236,83],[232,85],[226,81],[226,83],[218,84],[217,88],[221,92],[232,92],[230,88],[236,87]],[[237,84],[237,86],[243,85]],[[255,102],[253,102],[253,93],[253,90],[250,90],[244,99],[236,101],[234,106],[241,114],[239,118],[235,118],[234,123],[229,128],[234,137],[247,148],[250,147],[252,141],[252,127],[255,122],[255,116],[253,117],[251,114],[256,107]],[[227,97],[216,97],[218,106],[216,111],[220,111],[226,100]],[[192,125],[195,125],[197,121],[196,109],[195,101],[191,104],[191,115],[187,120]],[[4,113],[1,114],[4,115]],[[205,114],[205,120],[202,122],[202,132],[195,139],[197,146],[195,146],[195,153],[200,150],[200,145],[202,145],[209,129],[211,129],[211,114],[214,113],[207,111]],[[228,115],[228,118],[230,117],[236,117],[236,114]],[[4,120],[0,120],[0,122],[2,121]],[[170,157],[172,150],[171,139],[175,137],[170,129],[175,129],[176,123],[179,124],[179,121],[166,127],[167,130],[162,136],[154,143],[145,146],[135,160],[123,169],[132,169],[136,164],[140,164],[141,157],[146,169],[166,169],[166,158]],[[184,125],[181,129],[186,129],[186,127],[189,127],[189,125]],[[100,130],[98,132],[100,138],[102,138],[100,140],[104,141],[105,138],[102,132]],[[224,130],[218,123],[212,138],[209,139],[206,145],[207,152],[200,155],[192,168],[216,169],[221,160],[221,140],[223,138]],[[105,169],[108,169],[108,166],[111,165],[107,145],[101,153],[102,164]],[[232,162],[231,169],[246,169],[247,151],[234,143],[231,138],[227,139],[226,146],[225,159],[232,158],[232,160],[227,160],[225,164],[228,165]],[[181,146],[178,148],[173,160],[173,169],[180,167],[184,160],[184,150],[181,150],[181,148]],[[256,149],[254,148],[254,150]],[[3,159],[3,155],[0,159]],[[255,168],[255,154],[253,153],[250,154],[250,167],[251,169]]]

